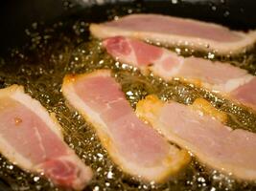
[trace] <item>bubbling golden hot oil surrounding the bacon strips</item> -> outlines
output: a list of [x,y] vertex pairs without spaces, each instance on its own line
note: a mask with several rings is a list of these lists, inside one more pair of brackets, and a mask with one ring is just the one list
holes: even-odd
[[[128,7],[120,11],[107,11],[109,19],[117,15],[140,11],[140,6]],[[63,127],[65,141],[76,151],[79,157],[93,168],[95,176],[86,190],[253,190],[256,182],[234,180],[212,170],[193,158],[189,166],[179,175],[165,183],[143,183],[128,176],[108,158],[105,149],[97,138],[93,126],[84,121],[81,115],[66,103],[60,88],[65,74],[89,73],[97,69],[111,69],[113,76],[121,83],[128,101],[134,108],[143,97],[155,94],[163,100],[174,100],[191,104],[198,97],[209,100],[216,108],[228,114],[228,125],[232,128],[244,128],[256,132],[256,116],[250,110],[206,90],[185,84],[177,79],[165,82],[149,74],[144,76],[139,70],[126,63],[114,61],[101,48],[101,42],[88,38],[86,19],[71,19],[58,22],[51,28],[34,24],[27,33],[31,43],[23,49],[12,50],[9,57],[0,62],[0,86],[13,83],[23,85],[27,93],[39,100],[49,112],[57,114]],[[41,29],[43,32],[41,32]],[[208,53],[196,53],[178,48],[182,55],[205,56]],[[234,63],[246,63],[244,68],[255,73],[255,55],[246,53],[238,57],[225,59]],[[247,59],[249,57],[249,59]],[[215,57],[211,59],[221,59]],[[237,60],[237,61],[236,61]],[[245,60],[245,61],[244,61]],[[38,175],[24,172],[7,159],[0,159],[0,177],[13,190],[61,190],[50,181]]]

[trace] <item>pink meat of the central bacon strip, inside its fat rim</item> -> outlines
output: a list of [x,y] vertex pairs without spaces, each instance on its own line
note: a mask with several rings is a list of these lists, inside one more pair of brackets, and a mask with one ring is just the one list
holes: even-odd
[[103,118],[122,155],[143,165],[152,165],[163,159],[168,144],[134,115],[113,78],[90,77],[78,81],[74,88],[81,99]]

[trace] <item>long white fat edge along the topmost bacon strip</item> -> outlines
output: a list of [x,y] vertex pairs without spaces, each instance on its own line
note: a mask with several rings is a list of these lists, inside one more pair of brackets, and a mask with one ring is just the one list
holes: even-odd
[[159,32],[136,32],[131,30],[118,29],[117,27],[108,27],[104,24],[92,24],[91,32],[99,38],[112,37],[116,35],[124,35],[143,40],[151,40],[152,42],[160,42],[168,45],[181,45],[200,50],[209,50],[216,53],[237,53],[246,47],[253,46],[256,41],[256,31],[244,33],[234,32],[242,37],[236,42],[221,42],[205,38],[198,38],[192,36],[166,34]]

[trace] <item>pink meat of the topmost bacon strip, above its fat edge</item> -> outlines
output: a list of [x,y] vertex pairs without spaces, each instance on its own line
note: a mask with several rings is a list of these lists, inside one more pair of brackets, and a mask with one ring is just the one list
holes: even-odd
[[239,34],[222,26],[157,14],[128,15],[119,20],[107,22],[105,26],[137,32],[172,33],[220,42],[239,41],[242,38]]

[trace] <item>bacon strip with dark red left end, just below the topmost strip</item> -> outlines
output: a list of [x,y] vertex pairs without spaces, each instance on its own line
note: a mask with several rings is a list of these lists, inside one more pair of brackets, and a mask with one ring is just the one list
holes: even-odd
[[165,80],[179,77],[230,96],[247,106],[256,106],[256,78],[229,63],[178,56],[166,49],[123,36],[107,38],[103,45],[115,59],[144,73],[150,70]]

